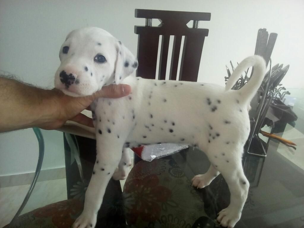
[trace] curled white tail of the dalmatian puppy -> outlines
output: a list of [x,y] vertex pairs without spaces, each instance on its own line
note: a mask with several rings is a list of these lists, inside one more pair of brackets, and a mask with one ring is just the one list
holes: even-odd
[[257,89],[260,87],[266,72],[266,63],[263,57],[259,55],[253,55],[244,59],[233,71],[229,80],[226,83],[225,90],[230,90],[237,80],[240,78],[242,72],[246,71],[248,67],[254,67],[253,74],[250,80],[238,92],[242,93],[244,99],[251,99],[254,97]]

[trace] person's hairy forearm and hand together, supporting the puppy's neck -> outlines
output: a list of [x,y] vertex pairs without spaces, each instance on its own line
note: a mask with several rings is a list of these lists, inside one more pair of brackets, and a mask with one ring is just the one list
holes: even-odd
[[109,85],[85,97],[71,97],[58,89],[45,90],[0,76],[0,132],[29,127],[58,129],[67,120],[93,127],[81,114],[94,99],[130,94],[129,85]]

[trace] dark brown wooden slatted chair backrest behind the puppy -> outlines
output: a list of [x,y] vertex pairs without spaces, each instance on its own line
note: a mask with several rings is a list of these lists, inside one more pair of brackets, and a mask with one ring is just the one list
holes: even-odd
[[[209,21],[210,13],[180,12],[164,10],[135,9],[136,18],[145,18],[145,26],[135,26],[134,32],[138,34],[137,58],[138,68],[136,76],[155,79],[159,37],[162,36],[159,71],[157,79],[166,77],[168,49],[170,36],[174,36],[170,66],[170,80],[176,80],[178,60],[182,48],[180,73],[178,80],[197,81],[199,64],[205,36],[209,29],[199,29],[199,21]],[[159,26],[152,26],[152,19],[159,19]],[[193,20],[193,28],[187,23]],[[185,36],[181,47],[182,36]]]

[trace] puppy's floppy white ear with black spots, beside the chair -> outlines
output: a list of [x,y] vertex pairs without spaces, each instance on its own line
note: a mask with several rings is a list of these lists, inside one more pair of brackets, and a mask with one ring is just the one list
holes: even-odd
[[118,85],[124,78],[137,69],[138,61],[131,51],[120,41],[117,42],[116,51],[115,83]]

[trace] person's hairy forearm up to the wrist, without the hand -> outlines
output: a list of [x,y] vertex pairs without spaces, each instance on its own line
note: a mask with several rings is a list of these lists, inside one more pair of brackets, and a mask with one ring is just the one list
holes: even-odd
[[0,132],[40,126],[54,121],[54,91],[0,77]]

